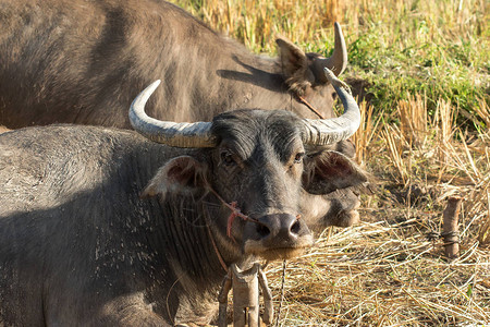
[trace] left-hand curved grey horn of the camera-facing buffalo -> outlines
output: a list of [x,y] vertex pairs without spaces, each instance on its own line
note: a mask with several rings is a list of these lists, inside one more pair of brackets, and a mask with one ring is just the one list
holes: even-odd
[[143,136],[170,146],[177,147],[213,147],[215,137],[211,136],[210,122],[176,123],[161,121],[145,113],[148,98],[160,85],[160,80],[146,87],[133,100],[130,107],[130,122],[133,129]]

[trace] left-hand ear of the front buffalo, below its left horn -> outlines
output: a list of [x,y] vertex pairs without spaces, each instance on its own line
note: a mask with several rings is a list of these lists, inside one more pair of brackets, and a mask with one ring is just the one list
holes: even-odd
[[142,196],[166,196],[169,193],[195,194],[206,185],[205,167],[191,156],[173,158],[158,170]]

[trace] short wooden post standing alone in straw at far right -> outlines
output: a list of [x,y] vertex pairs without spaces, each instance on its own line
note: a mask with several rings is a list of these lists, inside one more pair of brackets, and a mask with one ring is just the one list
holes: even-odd
[[444,252],[449,259],[454,259],[460,255],[460,234],[457,222],[460,219],[461,204],[463,198],[449,197],[442,218],[442,237],[444,239]]

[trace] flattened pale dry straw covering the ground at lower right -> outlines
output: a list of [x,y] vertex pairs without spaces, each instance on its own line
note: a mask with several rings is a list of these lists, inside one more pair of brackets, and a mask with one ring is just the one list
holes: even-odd
[[[490,322],[488,252],[464,244],[461,258],[446,264],[421,219],[363,222],[320,238],[315,251],[289,263],[281,326]],[[268,271],[274,294],[281,270]]]

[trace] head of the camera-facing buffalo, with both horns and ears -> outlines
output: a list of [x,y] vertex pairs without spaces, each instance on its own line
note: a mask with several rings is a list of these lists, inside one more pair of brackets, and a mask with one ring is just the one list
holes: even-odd
[[[145,195],[192,195],[206,204],[207,223],[226,257],[242,254],[266,259],[293,257],[309,247],[308,223],[315,197],[366,182],[366,175],[326,145],[348,138],[358,128],[359,109],[331,71],[327,77],[345,108],[330,120],[307,120],[284,110],[237,110],[212,122],[174,123],[144,112],[158,82],[133,102],[130,120],[146,137],[197,148],[160,168]],[[317,204],[321,201],[316,202]],[[313,214],[313,211],[317,214]],[[225,249],[225,250],[223,250]],[[235,253],[235,255],[233,255]],[[240,255],[238,255],[240,254]]]

